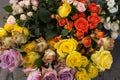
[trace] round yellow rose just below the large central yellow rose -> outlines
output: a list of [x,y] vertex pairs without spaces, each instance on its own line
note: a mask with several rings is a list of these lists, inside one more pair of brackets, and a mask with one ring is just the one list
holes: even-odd
[[72,51],[66,58],[66,65],[68,67],[80,67],[82,65],[81,53],[77,51]]

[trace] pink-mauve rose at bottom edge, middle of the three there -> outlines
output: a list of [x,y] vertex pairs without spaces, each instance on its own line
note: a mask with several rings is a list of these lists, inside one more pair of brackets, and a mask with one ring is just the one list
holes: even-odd
[[42,80],[58,80],[57,72],[53,70],[52,68],[46,69],[42,67],[42,74],[43,74]]

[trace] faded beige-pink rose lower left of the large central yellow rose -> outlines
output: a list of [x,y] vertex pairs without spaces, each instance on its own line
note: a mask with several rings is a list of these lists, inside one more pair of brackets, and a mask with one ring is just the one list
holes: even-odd
[[42,58],[42,60],[45,63],[52,63],[55,60],[56,54],[52,49],[47,49],[45,50],[45,54],[44,57]]

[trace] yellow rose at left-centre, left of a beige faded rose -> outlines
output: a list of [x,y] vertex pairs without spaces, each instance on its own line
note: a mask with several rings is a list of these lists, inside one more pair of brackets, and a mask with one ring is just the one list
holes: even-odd
[[29,53],[33,50],[33,48],[35,47],[36,42],[32,41],[24,46],[22,46],[22,50],[25,51],[26,53]]

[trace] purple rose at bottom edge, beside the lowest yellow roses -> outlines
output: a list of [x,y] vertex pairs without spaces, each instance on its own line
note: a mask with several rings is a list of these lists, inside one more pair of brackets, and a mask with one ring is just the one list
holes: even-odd
[[61,69],[58,72],[58,80],[73,80],[73,74],[70,72],[70,68]]

